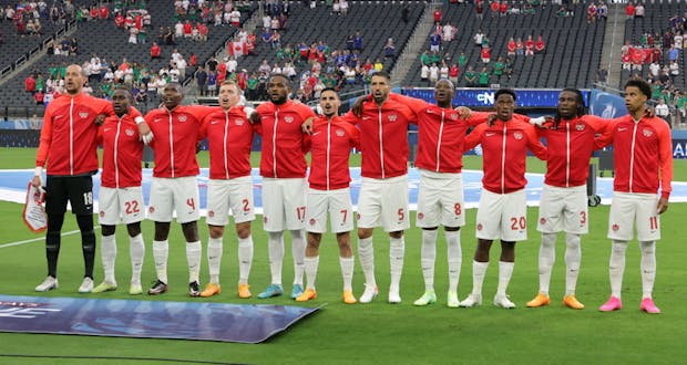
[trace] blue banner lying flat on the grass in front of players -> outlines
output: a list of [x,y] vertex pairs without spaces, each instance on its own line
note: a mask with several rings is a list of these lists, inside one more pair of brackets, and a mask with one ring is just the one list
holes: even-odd
[[260,343],[317,310],[0,295],[0,332]]

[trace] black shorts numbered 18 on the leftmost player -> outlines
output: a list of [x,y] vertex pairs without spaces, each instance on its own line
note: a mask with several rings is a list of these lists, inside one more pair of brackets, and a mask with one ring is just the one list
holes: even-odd
[[93,178],[85,176],[48,176],[45,181],[45,212],[63,215],[66,201],[74,215],[93,213]]

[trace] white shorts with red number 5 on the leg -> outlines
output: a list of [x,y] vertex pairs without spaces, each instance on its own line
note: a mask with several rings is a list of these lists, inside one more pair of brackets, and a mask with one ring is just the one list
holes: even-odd
[[408,175],[389,179],[362,178],[358,198],[358,227],[382,227],[386,232],[410,228]]

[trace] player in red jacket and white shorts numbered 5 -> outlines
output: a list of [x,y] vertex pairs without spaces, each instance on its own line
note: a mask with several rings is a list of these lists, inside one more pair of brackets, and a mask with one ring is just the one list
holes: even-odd
[[389,98],[389,74],[380,71],[371,76],[371,95],[365,97],[362,112],[344,116],[360,128],[362,186],[358,199],[358,255],[365,273],[366,288],[360,303],[370,303],[377,295],[372,233],[375,227],[389,232],[391,284],[389,303],[400,303],[403,272],[403,230],[408,218],[408,125],[417,123],[408,105]]

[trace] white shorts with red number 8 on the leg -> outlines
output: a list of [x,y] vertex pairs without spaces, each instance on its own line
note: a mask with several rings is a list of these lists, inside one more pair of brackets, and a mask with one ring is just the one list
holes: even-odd
[[462,174],[420,169],[417,227],[465,226]]

